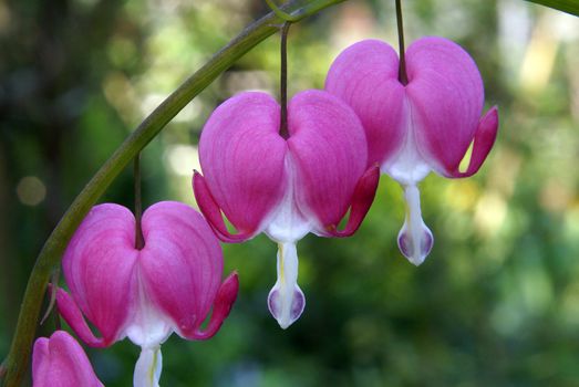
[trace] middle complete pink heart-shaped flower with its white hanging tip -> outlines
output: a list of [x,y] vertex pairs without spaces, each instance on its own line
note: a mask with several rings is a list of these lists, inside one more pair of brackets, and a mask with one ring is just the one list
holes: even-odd
[[[354,112],[321,91],[288,106],[289,137],[279,134],[280,106],[268,94],[241,93],[213,113],[199,142],[204,176],[195,197],[217,236],[245,241],[265,232],[278,243],[278,280],[268,306],[282,328],[302,313],[296,243],[308,232],[348,237],[373,199],[380,171],[366,170],[364,129]],[[337,227],[350,209],[343,230]],[[221,211],[238,233],[231,234]]]

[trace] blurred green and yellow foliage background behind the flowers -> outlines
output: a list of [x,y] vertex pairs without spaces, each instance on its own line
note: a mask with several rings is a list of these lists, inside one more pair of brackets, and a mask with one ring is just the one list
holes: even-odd
[[[299,245],[302,317],[281,331],[266,297],[276,245],[225,245],[238,302],[208,342],[173,335],[164,386],[579,386],[579,19],[521,0],[404,2],[406,40],[466,48],[498,104],[497,144],[465,180],[430,176],[435,234],[397,251],[402,191],[383,177],[356,236]],[[335,55],[396,42],[394,1],[350,0],[294,25],[289,92],[322,87]],[[267,8],[257,0],[0,0],[0,357],[43,241],[124,137]],[[144,200],[194,203],[204,122],[242,90],[278,93],[279,40],[247,54],[146,148]],[[102,201],[131,206],[127,169]],[[46,324],[40,334],[49,335]],[[106,386],[138,348],[87,349]]]

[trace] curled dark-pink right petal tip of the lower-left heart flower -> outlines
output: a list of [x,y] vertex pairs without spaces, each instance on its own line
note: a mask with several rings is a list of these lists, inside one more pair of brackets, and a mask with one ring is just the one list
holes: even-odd
[[229,276],[224,281],[217,292],[215,297],[214,310],[211,313],[211,318],[207,324],[207,327],[201,331],[199,326],[193,332],[184,331],[182,335],[189,339],[208,339],[211,338],[217,331],[221,327],[225,318],[231,312],[231,306],[234,305],[237,299],[237,292],[239,290],[239,279],[237,272],[229,274]]

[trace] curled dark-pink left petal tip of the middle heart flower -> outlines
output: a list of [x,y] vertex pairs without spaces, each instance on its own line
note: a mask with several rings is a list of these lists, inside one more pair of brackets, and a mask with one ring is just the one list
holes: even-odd
[[209,191],[209,187],[207,187],[207,181],[198,171],[194,171],[193,175],[193,191],[195,194],[195,199],[197,200],[197,206],[199,206],[199,210],[203,212],[211,226],[211,229],[220,240],[228,243],[237,243],[244,242],[254,237],[255,230],[248,230],[238,234],[232,234],[227,230],[227,226],[221,218],[221,210],[215,202],[215,199]]

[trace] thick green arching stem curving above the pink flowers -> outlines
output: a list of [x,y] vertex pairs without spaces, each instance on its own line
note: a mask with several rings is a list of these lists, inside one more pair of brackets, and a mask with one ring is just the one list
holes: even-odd
[[[304,3],[300,1],[302,6],[299,7],[297,7],[298,1],[291,1],[282,8],[283,12],[300,20],[343,1],[345,0],[311,0]],[[6,367],[3,368],[6,369],[4,387],[17,387],[22,381],[28,369],[32,341],[50,274],[60,263],[66,243],[89,210],[116,176],[178,112],[239,57],[277,32],[276,25],[283,21],[282,18],[271,12],[247,27],[237,38],[211,56],[203,67],[187,79],[138,125],[74,199],[44,243],[30,274],[10,352],[2,363],[2,366]]]

